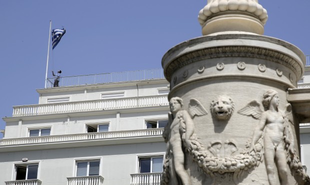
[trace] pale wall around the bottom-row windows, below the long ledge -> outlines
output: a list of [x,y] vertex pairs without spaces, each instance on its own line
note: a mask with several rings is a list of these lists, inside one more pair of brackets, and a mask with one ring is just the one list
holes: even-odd
[[[16,163],[39,163],[42,184],[65,185],[66,177],[75,176],[75,161],[99,158],[104,185],[128,185],[130,173],[137,173],[138,156],[163,155],[165,143],[137,143],[78,148],[60,148],[20,152],[0,152],[0,182],[14,179]],[[21,159],[27,157],[27,162]]]

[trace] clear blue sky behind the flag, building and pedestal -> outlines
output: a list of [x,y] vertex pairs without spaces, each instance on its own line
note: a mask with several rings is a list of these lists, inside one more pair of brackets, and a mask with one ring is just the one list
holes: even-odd
[[[283,2],[259,0],[269,16],[264,35],[310,54],[310,1]],[[10,117],[13,105],[38,103],[49,20],[66,33],[50,52],[48,77],[58,69],[62,76],[151,69],[161,67],[175,44],[201,36],[197,15],[204,5],[206,0],[1,0],[0,117]]]

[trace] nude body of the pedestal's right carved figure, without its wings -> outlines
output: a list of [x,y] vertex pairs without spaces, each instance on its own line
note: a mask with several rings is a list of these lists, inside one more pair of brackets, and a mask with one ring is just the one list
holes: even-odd
[[[278,93],[272,89],[266,91],[263,94],[262,104],[265,107],[265,111],[261,112],[259,124],[254,130],[250,151],[256,151],[255,144],[264,131],[264,161],[269,184],[278,184],[277,174],[275,173],[277,168],[280,183],[282,185],[288,185],[286,156],[283,148],[285,114],[278,109]],[[290,143],[289,150],[293,152],[293,141],[290,140]]]

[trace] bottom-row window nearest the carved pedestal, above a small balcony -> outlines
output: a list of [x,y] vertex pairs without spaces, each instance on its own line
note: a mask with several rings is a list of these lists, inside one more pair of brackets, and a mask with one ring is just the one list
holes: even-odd
[[150,156],[139,158],[139,173],[162,172],[163,156]]

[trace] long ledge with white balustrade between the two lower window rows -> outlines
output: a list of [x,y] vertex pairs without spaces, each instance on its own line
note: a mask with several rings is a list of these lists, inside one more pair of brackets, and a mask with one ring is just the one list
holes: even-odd
[[163,142],[163,128],[0,139],[0,152]]

